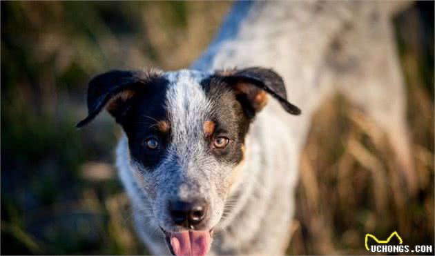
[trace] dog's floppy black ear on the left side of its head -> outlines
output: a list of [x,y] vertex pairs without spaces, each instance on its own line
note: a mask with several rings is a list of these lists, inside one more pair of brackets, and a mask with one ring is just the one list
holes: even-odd
[[79,121],[77,128],[92,121],[103,108],[119,122],[131,106],[137,91],[144,90],[146,84],[161,74],[159,70],[112,70],[97,75],[88,85],[88,117]]

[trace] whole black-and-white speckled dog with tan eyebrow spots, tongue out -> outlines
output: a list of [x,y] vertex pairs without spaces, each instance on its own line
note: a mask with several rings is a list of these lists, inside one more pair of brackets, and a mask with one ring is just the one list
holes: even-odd
[[284,254],[311,116],[334,92],[387,132],[414,180],[394,4],[238,2],[189,69],[90,81],[77,126],[106,109],[122,127],[117,168],[150,253]]

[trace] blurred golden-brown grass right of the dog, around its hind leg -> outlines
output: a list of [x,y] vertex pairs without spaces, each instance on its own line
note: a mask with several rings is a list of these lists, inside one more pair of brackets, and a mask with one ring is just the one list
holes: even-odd
[[323,104],[301,159],[289,254],[369,254],[366,233],[434,245],[434,3],[394,21],[407,82],[407,121],[418,193],[397,198],[397,166],[385,133],[340,95]]

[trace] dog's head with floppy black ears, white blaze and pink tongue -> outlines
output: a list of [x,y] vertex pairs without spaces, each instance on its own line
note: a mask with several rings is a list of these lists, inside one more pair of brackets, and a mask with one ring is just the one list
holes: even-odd
[[225,199],[242,177],[249,124],[267,103],[284,110],[284,83],[263,68],[200,72],[111,71],[88,89],[89,115],[106,108],[128,137],[131,175],[176,255],[204,255]]

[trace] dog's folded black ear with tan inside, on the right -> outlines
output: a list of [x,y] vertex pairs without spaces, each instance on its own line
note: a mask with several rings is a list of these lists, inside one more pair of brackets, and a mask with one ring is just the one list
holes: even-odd
[[284,81],[273,70],[253,67],[220,71],[218,75],[235,91],[236,98],[251,117],[267,104],[266,93],[277,99],[290,114],[300,115],[300,109],[287,101]]

